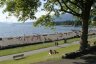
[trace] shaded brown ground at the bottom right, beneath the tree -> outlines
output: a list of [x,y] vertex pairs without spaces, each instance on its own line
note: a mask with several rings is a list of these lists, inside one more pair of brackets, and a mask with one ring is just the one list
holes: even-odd
[[38,62],[35,64],[96,64],[96,53],[87,54],[76,59],[52,60],[52,61]]

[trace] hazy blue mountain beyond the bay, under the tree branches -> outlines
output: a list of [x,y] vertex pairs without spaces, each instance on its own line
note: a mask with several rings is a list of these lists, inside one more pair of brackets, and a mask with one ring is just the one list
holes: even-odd
[[76,20],[76,17],[69,13],[65,13],[60,16],[54,17],[54,22],[64,22],[64,21],[74,21],[74,20]]

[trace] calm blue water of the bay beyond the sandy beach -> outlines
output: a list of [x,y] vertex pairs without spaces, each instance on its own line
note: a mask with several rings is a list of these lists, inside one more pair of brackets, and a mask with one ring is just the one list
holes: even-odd
[[54,29],[34,27],[32,24],[0,24],[0,37],[28,36],[33,34],[63,33],[71,30],[80,30],[80,27],[55,26]]

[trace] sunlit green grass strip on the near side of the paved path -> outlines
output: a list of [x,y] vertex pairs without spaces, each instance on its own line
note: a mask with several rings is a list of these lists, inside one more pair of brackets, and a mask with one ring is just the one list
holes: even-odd
[[31,56],[25,57],[24,59],[20,59],[20,60],[2,61],[0,62],[0,64],[31,64],[41,61],[60,60],[61,56],[64,55],[65,53],[76,51],[78,49],[79,49],[79,44],[75,44],[68,47],[57,49],[59,54],[49,55],[48,51],[46,51],[46,52],[33,54]]

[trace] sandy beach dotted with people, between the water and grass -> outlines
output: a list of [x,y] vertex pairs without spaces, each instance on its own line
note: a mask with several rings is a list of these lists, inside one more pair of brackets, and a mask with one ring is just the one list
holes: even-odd
[[[96,34],[96,30],[90,30],[89,35]],[[43,35],[31,35],[31,36],[19,36],[19,37],[6,37],[0,38],[0,48],[22,46],[37,44],[49,41],[64,40],[68,38],[80,37],[81,31],[70,31],[64,33],[55,34],[43,34]]]

